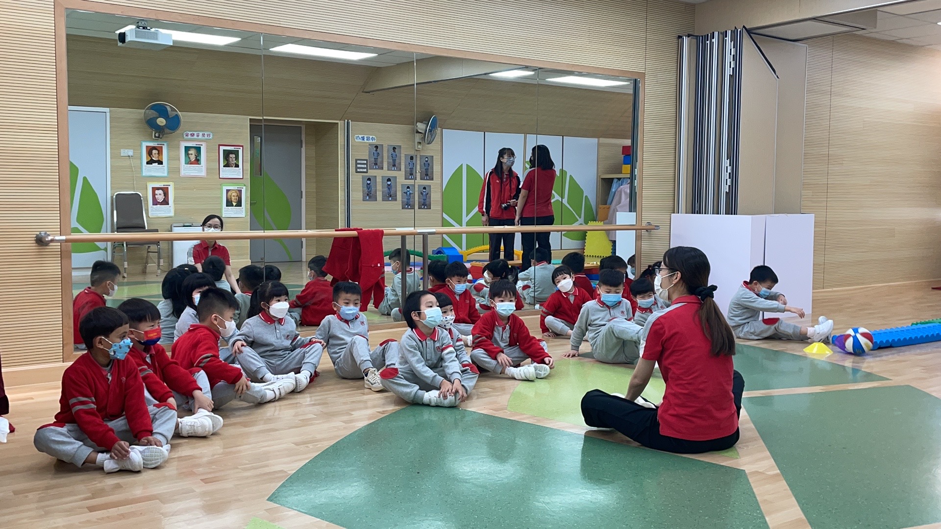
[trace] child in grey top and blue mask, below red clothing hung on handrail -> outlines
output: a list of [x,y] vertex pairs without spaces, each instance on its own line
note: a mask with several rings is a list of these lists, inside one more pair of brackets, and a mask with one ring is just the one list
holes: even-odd
[[359,313],[362,289],[351,281],[333,285],[333,310],[324,318],[314,335],[327,349],[333,370],[341,378],[362,378],[363,385],[374,392],[382,391],[382,381],[376,366],[395,359],[398,343],[386,340],[375,350],[369,348],[369,323],[366,314]]

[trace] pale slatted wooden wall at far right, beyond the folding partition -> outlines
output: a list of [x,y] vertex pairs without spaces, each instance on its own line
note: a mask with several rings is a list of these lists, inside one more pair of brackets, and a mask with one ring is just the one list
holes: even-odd
[[849,35],[806,42],[814,288],[941,277],[941,52]]

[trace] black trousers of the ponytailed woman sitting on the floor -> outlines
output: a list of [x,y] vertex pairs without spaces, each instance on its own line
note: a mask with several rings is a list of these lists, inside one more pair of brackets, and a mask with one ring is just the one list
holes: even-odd
[[[732,397],[735,410],[742,414],[742,392],[745,381],[738,371],[732,371]],[[702,454],[726,450],[739,441],[739,430],[731,435],[709,441],[687,441],[676,437],[661,435],[660,422],[657,420],[658,409],[645,408],[635,402],[592,390],[582,397],[582,416],[585,424],[596,428],[614,428],[630,439],[648,448],[673,452],[675,454]]]

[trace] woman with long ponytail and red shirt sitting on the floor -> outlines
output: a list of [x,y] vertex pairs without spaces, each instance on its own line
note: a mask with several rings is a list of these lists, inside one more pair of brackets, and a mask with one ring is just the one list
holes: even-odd
[[[614,428],[644,446],[678,454],[726,450],[739,441],[745,382],[732,368],[735,337],[712,299],[716,287],[709,274],[709,259],[698,248],[663,254],[654,285],[672,304],[646,322],[628,393],[593,390],[582,397],[586,425]],[[654,362],[666,384],[660,408],[641,397]]]

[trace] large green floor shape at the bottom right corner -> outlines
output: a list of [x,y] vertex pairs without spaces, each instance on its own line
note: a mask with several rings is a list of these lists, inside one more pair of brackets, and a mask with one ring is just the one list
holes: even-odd
[[941,399],[890,386],[744,406],[814,529],[941,521]]

